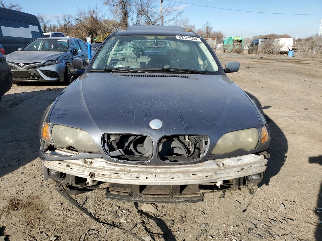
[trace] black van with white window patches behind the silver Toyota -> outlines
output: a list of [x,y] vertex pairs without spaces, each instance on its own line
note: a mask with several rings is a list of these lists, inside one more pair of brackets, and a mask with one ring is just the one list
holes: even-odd
[[43,32],[35,15],[0,7],[0,44],[6,54],[42,37]]

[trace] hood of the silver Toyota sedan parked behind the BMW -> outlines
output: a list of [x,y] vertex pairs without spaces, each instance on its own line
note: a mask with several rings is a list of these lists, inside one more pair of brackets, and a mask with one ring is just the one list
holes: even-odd
[[7,61],[43,61],[43,60],[55,60],[66,52],[50,52],[50,51],[15,51],[6,55]]

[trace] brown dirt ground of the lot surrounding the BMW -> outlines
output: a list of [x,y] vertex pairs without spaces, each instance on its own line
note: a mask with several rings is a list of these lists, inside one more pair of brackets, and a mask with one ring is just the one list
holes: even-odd
[[[255,195],[244,190],[228,191],[223,199],[221,193],[207,194],[202,203],[158,204],[156,215],[140,210],[142,204],[107,200],[103,191],[76,199],[88,197],[85,207],[107,222],[127,229],[137,223],[132,231],[140,237],[149,232],[152,240],[196,240],[207,230],[198,240],[321,241],[322,212],[316,208],[322,208],[322,58],[218,57],[223,65],[240,61],[240,71],[228,76],[251,96],[269,123],[271,158]],[[0,236],[11,241],[136,240],[115,228],[104,237],[105,227],[43,179],[39,121],[65,87],[14,84],[2,97]],[[113,216],[122,210],[129,211],[119,219]]]

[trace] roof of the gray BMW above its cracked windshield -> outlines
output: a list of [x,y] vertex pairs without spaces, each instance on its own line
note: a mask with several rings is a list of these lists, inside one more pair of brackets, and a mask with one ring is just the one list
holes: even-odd
[[186,32],[183,27],[164,25],[129,26],[126,30],[117,31],[114,35],[185,35],[197,37],[197,34]]

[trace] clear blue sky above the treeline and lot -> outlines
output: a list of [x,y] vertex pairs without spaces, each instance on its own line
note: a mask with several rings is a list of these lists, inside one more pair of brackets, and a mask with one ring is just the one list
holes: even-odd
[[[240,36],[243,31],[243,37],[252,37],[255,34],[289,34],[292,37],[304,38],[318,33],[317,25],[322,18],[322,1],[218,1],[218,0],[178,0],[184,3],[175,3],[185,12],[182,17],[188,17],[190,22],[195,24],[196,28],[202,27],[205,22],[210,22],[213,30],[221,30],[226,36]],[[103,0],[8,0],[7,2],[19,3],[23,6],[23,12],[37,14],[42,13],[50,16],[52,23],[56,23],[56,17],[62,14],[75,14],[77,7],[87,9],[89,6],[102,6]],[[169,1],[164,2],[168,4]],[[284,14],[266,14],[266,13],[247,13],[229,10],[220,10],[191,4],[200,4],[206,6],[231,8],[237,10],[248,10],[257,12],[274,13],[306,13],[321,14],[319,16],[305,15],[284,15]],[[255,4],[257,3],[257,4]],[[156,0],[159,6],[159,1]],[[103,5],[102,10],[106,11],[106,16],[110,15],[109,9]],[[111,16],[111,15],[110,15]],[[112,16],[111,16],[112,17]]]

